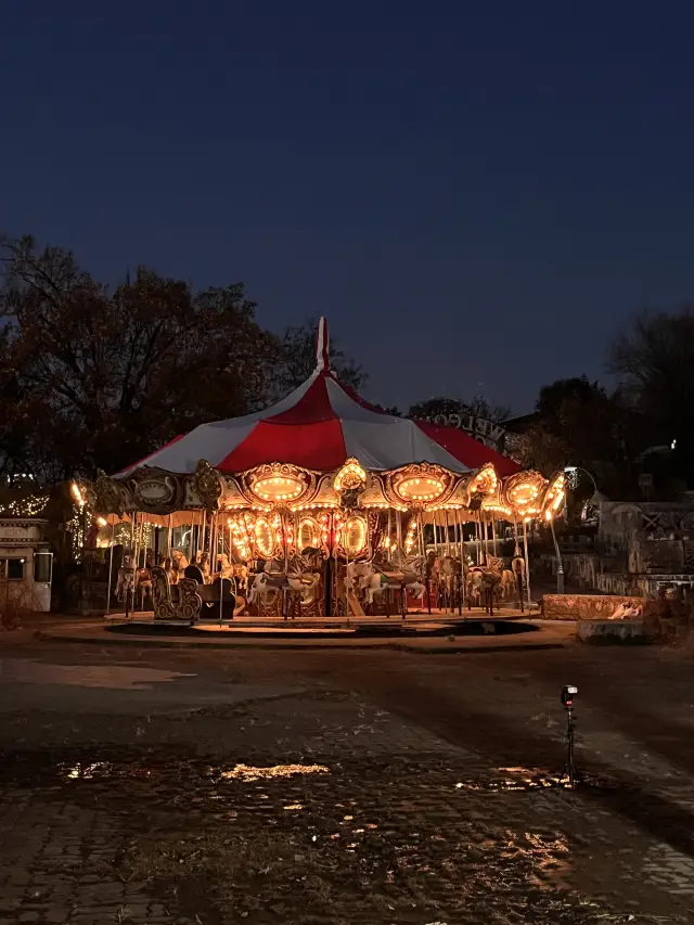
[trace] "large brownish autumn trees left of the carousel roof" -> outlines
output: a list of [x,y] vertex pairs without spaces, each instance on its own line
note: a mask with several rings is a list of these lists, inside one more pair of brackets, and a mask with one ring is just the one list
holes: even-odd
[[193,293],[140,268],[112,291],[69,252],[30,237],[0,247],[5,470],[114,472],[269,397],[278,344],[241,283]]

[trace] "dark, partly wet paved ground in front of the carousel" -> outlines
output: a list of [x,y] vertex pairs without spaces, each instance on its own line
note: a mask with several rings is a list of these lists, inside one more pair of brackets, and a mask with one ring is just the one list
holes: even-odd
[[694,921],[692,665],[5,634],[0,925]]

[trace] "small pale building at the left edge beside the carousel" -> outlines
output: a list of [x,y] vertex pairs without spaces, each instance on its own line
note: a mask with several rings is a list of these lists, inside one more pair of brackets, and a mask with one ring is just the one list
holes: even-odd
[[0,518],[0,611],[51,609],[53,553],[42,540],[46,524],[37,517]]

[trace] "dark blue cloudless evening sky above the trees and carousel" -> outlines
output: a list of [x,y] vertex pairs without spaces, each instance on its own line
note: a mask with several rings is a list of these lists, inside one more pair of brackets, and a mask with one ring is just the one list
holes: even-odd
[[530,409],[694,298],[686,2],[4,0],[0,229]]

